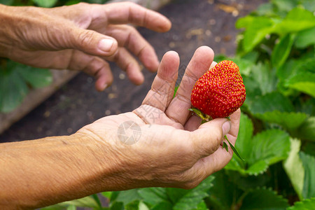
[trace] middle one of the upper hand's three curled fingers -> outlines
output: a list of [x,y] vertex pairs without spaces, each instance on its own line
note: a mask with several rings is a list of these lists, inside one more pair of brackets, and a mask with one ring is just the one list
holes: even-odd
[[141,73],[141,68],[137,60],[125,48],[118,48],[113,56],[106,59],[116,62],[120,69],[127,73],[127,77],[135,85],[144,83],[144,75]]

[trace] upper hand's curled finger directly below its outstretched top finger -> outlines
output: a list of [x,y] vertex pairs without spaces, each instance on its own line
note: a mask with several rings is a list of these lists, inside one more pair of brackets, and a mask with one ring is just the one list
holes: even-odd
[[149,71],[157,71],[159,66],[158,56],[154,48],[137,29],[127,25],[111,25],[106,34],[115,38],[118,45],[125,46],[130,52],[139,57],[140,61]]

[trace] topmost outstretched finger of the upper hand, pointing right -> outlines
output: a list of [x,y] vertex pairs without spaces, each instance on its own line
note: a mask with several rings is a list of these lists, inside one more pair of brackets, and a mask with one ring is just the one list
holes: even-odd
[[136,3],[108,3],[104,11],[111,24],[132,23],[158,32],[168,31],[172,25],[165,16]]

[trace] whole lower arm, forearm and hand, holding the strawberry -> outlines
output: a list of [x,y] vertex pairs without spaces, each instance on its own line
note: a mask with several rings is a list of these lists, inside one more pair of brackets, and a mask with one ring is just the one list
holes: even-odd
[[[179,55],[167,52],[143,104],[71,136],[0,144],[0,209],[36,209],[107,190],[193,188],[232,158],[240,111],[200,125],[191,115],[195,81],[214,52],[198,48],[173,98]],[[27,192],[27,193],[25,193]]]

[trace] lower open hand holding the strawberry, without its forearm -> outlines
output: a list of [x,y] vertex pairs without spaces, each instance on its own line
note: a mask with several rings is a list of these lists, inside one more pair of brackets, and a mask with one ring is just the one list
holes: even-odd
[[[216,118],[202,125],[201,119],[188,111],[193,85],[209,69],[213,58],[211,48],[198,48],[173,98],[179,55],[167,52],[138,109],[101,118],[74,134],[96,140],[104,148],[106,160],[102,162],[113,171],[106,174],[104,179],[111,181],[100,190],[194,188],[228,164],[232,150],[226,152],[220,145],[225,134],[235,144],[240,111],[233,113],[231,120]],[[123,137],[122,125],[125,130],[136,130],[136,136],[127,139],[126,133]]]

